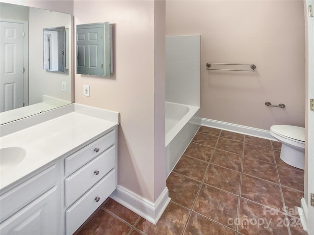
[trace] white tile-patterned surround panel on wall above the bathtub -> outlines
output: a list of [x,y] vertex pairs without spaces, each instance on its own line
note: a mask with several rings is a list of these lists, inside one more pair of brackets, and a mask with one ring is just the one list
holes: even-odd
[[166,37],[166,101],[200,106],[201,36]]

